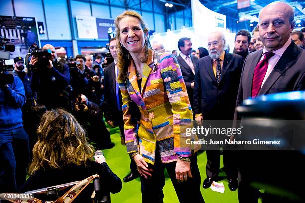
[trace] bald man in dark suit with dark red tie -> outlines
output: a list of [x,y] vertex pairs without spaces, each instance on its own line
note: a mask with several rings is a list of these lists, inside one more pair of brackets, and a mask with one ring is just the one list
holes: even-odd
[[[291,40],[290,33],[294,26],[294,10],[286,3],[273,2],[261,10],[258,28],[264,48],[249,54],[245,59],[236,101],[237,106],[249,97],[305,89],[305,51],[297,47]],[[283,114],[285,113],[283,112]],[[241,118],[235,113],[234,119],[240,120]],[[302,178],[304,176],[294,173],[299,168],[300,162],[291,161],[295,157],[293,152],[256,151],[254,153],[249,151],[242,152],[240,155],[239,203],[257,202],[260,193],[250,184],[257,181],[257,178],[268,184],[270,183],[267,180],[281,182],[281,185],[288,187],[297,185],[297,183],[293,183],[294,180],[304,182],[304,178]],[[300,189],[303,190],[303,187],[298,190]],[[296,192],[296,190],[291,191]],[[284,194],[279,196],[281,195]],[[266,191],[264,195],[270,202],[290,202],[279,201],[279,196],[267,196]],[[268,202],[268,200],[264,199],[263,202]]]

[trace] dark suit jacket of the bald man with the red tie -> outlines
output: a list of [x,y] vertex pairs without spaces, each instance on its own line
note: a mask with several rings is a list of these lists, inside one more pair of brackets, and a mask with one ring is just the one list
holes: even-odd
[[[247,56],[239,84],[236,106],[252,94],[254,69],[262,56],[263,50],[255,51]],[[305,50],[293,41],[284,51],[282,57],[271,71],[258,95],[305,89]],[[240,117],[235,113],[235,120]]]

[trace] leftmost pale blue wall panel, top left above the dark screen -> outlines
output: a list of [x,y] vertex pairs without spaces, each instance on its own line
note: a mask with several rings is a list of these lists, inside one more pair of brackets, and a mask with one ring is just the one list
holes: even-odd
[[[14,0],[14,5],[16,16],[36,17],[37,21],[45,24],[41,0]],[[47,33],[40,35],[40,39],[47,39]]]

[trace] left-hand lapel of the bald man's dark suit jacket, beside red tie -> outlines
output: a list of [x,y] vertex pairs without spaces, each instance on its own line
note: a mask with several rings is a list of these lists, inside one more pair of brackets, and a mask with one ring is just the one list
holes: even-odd
[[[260,61],[261,56],[262,56],[263,50],[257,51],[257,53],[255,53],[252,57],[248,57],[247,60],[250,60],[250,65],[249,65],[249,70],[245,70],[248,71],[248,75],[247,75],[247,79],[246,79],[246,96],[247,97],[251,97],[252,95],[252,80],[253,80],[253,74],[254,74],[254,69],[255,66],[257,65],[257,63]],[[247,74],[247,73],[245,73]]]

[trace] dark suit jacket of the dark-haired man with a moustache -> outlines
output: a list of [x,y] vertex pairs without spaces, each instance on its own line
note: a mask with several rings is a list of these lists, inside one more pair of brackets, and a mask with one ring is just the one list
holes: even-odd
[[[192,54],[190,54],[190,57],[191,57],[192,62],[194,64],[194,69],[196,70],[196,64],[197,64],[198,58],[193,56]],[[189,101],[190,101],[190,104],[193,108],[193,92],[194,92],[194,90],[193,90],[193,88],[191,88],[191,83],[195,81],[195,75],[194,75],[192,69],[189,67],[189,65],[181,57],[181,55],[179,55],[177,57],[177,60],[178,60],[178,63],[181,67],[181,72],[182,72],[183,79],[184,79],[184,82],[185,82],[185,85],[186,85],[186,90],[187,90],[187,94],[188,94],[188,97],[189,97]]]

